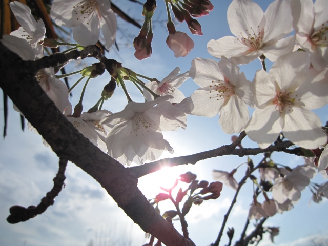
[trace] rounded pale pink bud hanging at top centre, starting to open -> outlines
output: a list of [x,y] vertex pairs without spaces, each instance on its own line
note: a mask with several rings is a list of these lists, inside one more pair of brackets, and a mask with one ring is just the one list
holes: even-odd
[[184,32],[170,34],[166,39],[169,48],[174,52],[175,57],[185,57],[194,48],[193,40]]

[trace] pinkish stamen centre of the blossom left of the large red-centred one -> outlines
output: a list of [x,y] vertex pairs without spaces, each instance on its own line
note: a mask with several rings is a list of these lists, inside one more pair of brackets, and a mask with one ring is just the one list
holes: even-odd
[[220,99],[229,99],[230,96],[235,94],[235,86],[230,84],[228,79],[225,79],[225,81],[222,80],[218,80],[216,81],[212,81],[212,85],[210,86],[210,88],[212,90],[210,90],[211,96],[210,99],[214,99],[216,98],[216,100],[220,100]]

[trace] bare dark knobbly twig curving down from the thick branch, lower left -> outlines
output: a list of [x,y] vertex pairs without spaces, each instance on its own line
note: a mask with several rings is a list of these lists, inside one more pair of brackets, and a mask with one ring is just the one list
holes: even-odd
[[47,195],[41,199],[40,204],[38,206],[29,206],[28,208],[24,208],[22,206],[12,206],[9,209],[10,215],[7,217],[7,221],[11,224],[15,224],[18,222],[23,222],[34,218],[38,214],[42,214],[47,210],[47,208],[54,204],[55,197],[58,196],[61,188],[64,185],[65,180],[65,169],[67,166],[67,159],[60,158],[59,159],[59,169],[56,177],[53,179],[53,188]]

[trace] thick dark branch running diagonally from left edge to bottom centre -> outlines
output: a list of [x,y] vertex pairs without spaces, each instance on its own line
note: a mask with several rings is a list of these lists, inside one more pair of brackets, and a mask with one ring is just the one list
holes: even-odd
[[[83,57],[80,53],[78,55]],[[0,42],[0,87],[45,138],[52,150],[96,179],[144,231],[166,245],[194,245],[155,211],[137,188],[138,179],[133,173],[80,134],[38,85],[35,80],[37,69],[66,61],[63,59],[52,63],[54,56],[38,61],[23,61]]]

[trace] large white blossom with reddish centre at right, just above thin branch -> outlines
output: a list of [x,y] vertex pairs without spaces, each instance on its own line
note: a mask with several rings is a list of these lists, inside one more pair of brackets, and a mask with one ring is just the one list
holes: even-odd
[[259,70],[252,83],[257,109],[245,129],[261,148],[267,148],[282,131],[294,144],[316,149],[325,144],[321,120],[312,109],[321,107],[322,98],[309,76],[310,62],[305,52],[281,57],[269,73]]

